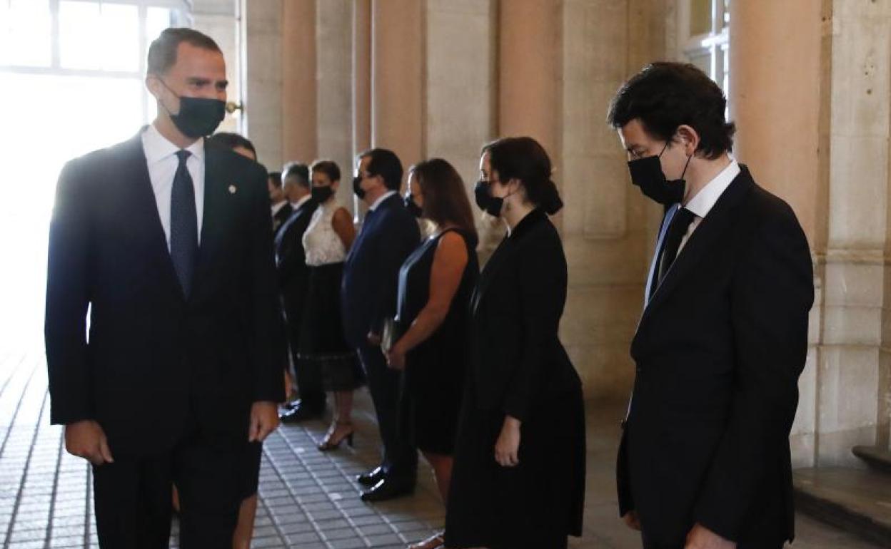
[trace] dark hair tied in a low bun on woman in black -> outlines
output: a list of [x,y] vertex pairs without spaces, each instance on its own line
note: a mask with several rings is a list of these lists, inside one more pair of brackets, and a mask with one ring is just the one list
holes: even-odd
[[563,207],[557,185],[551,181],[551,158],[538,141],[531,137],[503,137],[487,143],[480,154],[486,153],[498,179],[503,183],[519,179],[526,197],[535,206],[550,215]]

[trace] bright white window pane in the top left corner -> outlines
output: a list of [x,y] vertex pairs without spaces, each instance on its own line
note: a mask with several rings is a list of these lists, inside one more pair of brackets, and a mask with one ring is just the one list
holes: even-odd
[[[12,0],[0,32],[0,63],[49,67],[53,62],[53,25],[48,0]],[[4,23],[0,23],[0,28]]]

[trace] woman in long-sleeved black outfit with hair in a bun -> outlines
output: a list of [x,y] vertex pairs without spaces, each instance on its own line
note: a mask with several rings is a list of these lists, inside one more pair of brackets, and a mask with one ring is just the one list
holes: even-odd
[[470,299],[469,375],[446,513],[450,549],[560,549],[581,536],[582,388],[558,337],[562,206],[535,140],[489,143],[477,204],[508,234]]

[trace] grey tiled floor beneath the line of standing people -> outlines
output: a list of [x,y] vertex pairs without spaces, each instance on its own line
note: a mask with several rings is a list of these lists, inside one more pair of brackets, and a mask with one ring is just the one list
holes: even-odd
[[[613,464],[620,413],[621,408],[589,406],[584,536],[571,539],[571,547],[640,546],[616,517]],[[96,546],[89,470],[64,452],[61,428],[50,425],[48,416],[42,357],[0,349],[0,549]],[[283,426],[270,436],[254,547],[402,548],[442,525],[443,508],[423,467],[413,497],[377,505],[359,501],[351,479],[378,457],[364,392],[356,422],[356,448],[328,454],[315,449],[325,429],[322,421]],[[795,549],[877,547],[803,516],[797,529]]]

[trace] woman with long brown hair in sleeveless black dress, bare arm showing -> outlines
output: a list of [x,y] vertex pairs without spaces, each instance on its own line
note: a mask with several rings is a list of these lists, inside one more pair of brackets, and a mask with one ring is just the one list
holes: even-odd
[[[466,376],[467,310],[479,272],[477,232],[461,176],[445,160],[413,166],[405,206],[437,226],[399,270],[397,332],[390,367],[404,369],[400,435],[427,458],[448,500],[452,453]],[[442,545],[431,537],[416,549]]]

